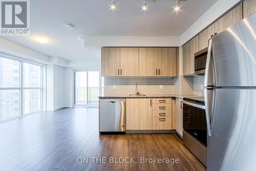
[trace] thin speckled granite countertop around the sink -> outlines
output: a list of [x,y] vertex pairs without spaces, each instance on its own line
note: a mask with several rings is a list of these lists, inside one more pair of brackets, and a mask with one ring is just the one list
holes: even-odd
[[202,97],[202,96],[194,96],[194,95],[175,95],[175,94],[149,94],[146,96],[130,96],[130,95],[103,95],[98,96],[99,98],[195,98],[195,97]]

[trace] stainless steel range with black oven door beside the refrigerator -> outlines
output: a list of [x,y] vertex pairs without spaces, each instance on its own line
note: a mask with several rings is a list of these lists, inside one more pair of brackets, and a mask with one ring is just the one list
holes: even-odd
[[204,98],[183,99],[183,144],[206,166],[207,124]]

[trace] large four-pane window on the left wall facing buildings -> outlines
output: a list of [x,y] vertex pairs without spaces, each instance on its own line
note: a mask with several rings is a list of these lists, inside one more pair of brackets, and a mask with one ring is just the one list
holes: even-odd
[[0,121],[41,111],[42,67],[0,56]]

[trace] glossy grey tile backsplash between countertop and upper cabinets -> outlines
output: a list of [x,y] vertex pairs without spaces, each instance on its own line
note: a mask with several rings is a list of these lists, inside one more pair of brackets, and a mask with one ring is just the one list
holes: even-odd
[[140,94],[175,94],[203,96],[204,76],[179,77],[104,77],[103,95],[135,94],[135,83]]

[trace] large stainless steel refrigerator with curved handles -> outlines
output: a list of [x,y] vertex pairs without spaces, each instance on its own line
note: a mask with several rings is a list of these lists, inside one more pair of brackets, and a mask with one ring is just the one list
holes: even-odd
[[207,170],[256,169],[256,13],[209,41]]

